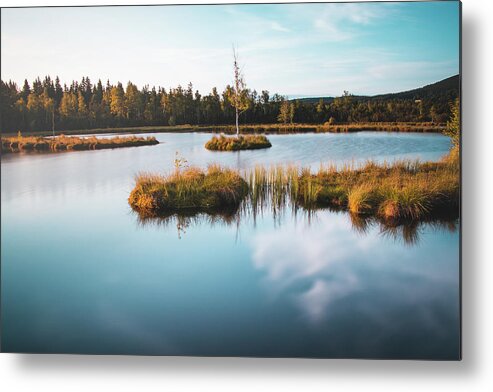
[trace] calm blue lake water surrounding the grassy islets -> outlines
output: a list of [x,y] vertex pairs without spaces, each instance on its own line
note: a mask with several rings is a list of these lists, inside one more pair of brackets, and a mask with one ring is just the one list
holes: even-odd
[[171,170],[176,151],[197,166],[317,168],[437,160],[448,138],[271,135],[269,150],[214,153],[210,134],[155,136],[163,143],[2,157],[3,351],[458,358],[454,224],[389,232],[269,209],[142,224],[127,204],[134,175]]

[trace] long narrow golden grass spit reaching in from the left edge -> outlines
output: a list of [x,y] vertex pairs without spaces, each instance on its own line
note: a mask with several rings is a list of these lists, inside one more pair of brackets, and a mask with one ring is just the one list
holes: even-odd
[[2,153],[21,152],[21,151],[80,151],[80,150],[101,150],[105,148],[137,147],[159,144],[155,137],[75,137],[75,136],[56,136],[54,138],[35,137],[35,136],[15,136],[2,137]]

